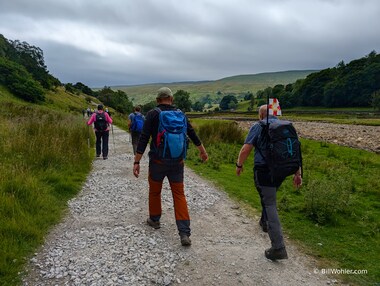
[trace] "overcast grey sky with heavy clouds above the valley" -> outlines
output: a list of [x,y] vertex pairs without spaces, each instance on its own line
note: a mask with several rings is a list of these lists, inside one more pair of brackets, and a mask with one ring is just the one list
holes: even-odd
[[380,53],[380,1],[0,0],[0,34],[64,83],[216,80]]

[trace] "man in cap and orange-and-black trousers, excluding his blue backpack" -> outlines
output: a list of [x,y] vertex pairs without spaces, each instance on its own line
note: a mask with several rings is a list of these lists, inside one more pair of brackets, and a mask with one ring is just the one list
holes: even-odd
[[[167,87],[160,88],[156,97],[158,108],[161,111],[176,110],[173,106],[173,94]],[[161,218],[161,189],[165,177],[168,178],[173,194],[175,219],[183,246],[191,245],[190,216],[184,192],[184,161],[180,159],[162,159],[157,152],[157,135],[159,126],[159,111],[152,109],[146,114],[143,131],[141,133],[133,165],[135,177],[140,173],[140,160],[152,138],[149,151],[149,218],[147,223],[160,228]],[[197,146],[203,161],[208,160],[206,149],[199,140],[194,128],[187,120],[187,136]]]

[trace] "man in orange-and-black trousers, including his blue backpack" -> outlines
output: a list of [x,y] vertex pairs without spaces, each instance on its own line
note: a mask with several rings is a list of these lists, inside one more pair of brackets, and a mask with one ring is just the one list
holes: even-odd
[[[156,100],[157,107],[150,110],[146,115],[144,128],[136,149],[133,174],[135,177],[139,176],[140,160],[151,137],[148,175],[149,217],[147,223],[155,229],[160,228],[161,189],[163,180],[167,177],[173,195],[174,213],[181,244],[190,246],[190,216],[183,183],[187,136],[197,146],[203,161],[208,160],[208,155],[187,117],[172,105],[173,94],[171,90],[167,87],[160,88]],[[177,134],[173,132],[173,126],[177,130]]]

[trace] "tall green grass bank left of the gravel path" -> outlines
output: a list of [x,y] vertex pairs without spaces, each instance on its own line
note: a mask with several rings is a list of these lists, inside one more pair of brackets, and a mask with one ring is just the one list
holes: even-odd
[[81,116],[2,94],[0,285],[17,285],[26,259],[80,190],[94,155],[88,139],[94,140]]

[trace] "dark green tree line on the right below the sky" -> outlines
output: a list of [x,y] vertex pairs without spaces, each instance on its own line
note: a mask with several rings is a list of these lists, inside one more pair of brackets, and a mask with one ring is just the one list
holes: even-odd
[[278,98],[282,108],[315,107],[369,107],[380,106],[380,55],[372,51],[367,56],[348,64],[341,61],[287,85],[278,84],[259,90],[260,103],[265,98]]

